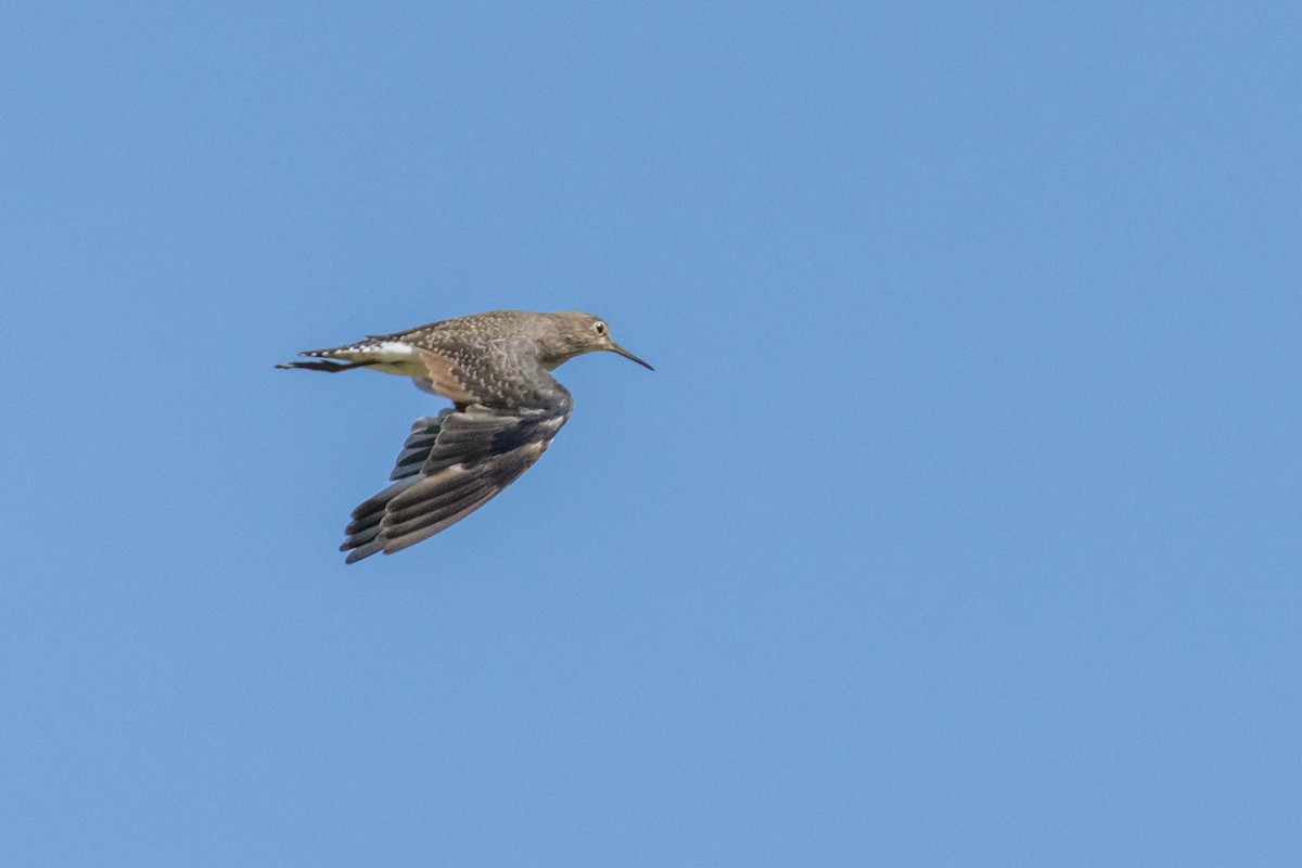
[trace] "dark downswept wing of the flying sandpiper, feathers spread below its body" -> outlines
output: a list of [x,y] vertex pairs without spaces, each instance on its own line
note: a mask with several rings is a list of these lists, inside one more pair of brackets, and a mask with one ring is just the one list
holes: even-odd
[[348,562],[404,549],[483,506],[538,461],[570,416],[555,385],[536,407],[458,405],[411,427],[392,485],[353,510],[340,550]]

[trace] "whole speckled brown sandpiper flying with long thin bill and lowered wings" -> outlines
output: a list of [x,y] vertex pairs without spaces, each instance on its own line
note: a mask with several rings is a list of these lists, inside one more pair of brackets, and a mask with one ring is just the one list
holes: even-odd
[[331,373],[371,368],[452,400],[439,415],[415,420],[389,475],[393,484],[353,510],[340,547],[346,562],[428,539],[516,481],[574,409],[551,372],[598,350],[654,370],[611,340],[605,320],[579,311],[474,314],[277,364]]

